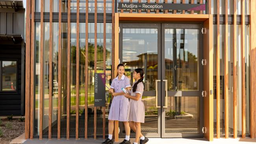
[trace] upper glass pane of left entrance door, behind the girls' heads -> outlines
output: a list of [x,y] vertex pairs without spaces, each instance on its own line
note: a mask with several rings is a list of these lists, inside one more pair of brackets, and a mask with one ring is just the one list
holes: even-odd
[[158,29],[123,28],[122,62],[126,65],[126,76],[132,83],[132,72],[136,68],[145,71],[145,91],[155,90],[158,79]]

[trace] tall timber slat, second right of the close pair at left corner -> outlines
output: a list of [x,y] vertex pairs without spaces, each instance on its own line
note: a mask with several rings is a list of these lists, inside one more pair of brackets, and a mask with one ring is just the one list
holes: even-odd
[[50,39],[49,39],[49,122],[48,138],[52,138],[52,8],[53,2],[50,0]]

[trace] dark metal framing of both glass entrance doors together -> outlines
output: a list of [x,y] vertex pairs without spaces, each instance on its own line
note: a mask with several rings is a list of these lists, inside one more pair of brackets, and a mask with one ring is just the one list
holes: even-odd
[[[158,79],[161,82],[158,82],[158,133],[147,133],[146,137],[161,137],[161,138],[189,138],[189,137],[203,137],[202,133],[203,127],[203,98],[201,92],[203,90],[203,67],[200,63],[200,60],[203,58],[203,35],[201,33],[201,29],[203,27],[202,23],[197,24],[181,24],[181,23],[168,23],[169,26],[166,26],[167,23],[119,23],[119,61],[122,63],[122,38],[123,38],[123,28],[157,28],[158,29],[158,63],[161,64],[158,66]],[[164,70],[164,55],[165,55],[165,28],[174,28],[174,29],[198,29],[199,30],[199,57],[198,57],[198,66],[199,66],[199,91],[192,92],[191,91],[168,91],[168,96],[195,96],[195,94],[199,97],[199,132],[200,133],[165,133],[165,114],[164,108],[165,105],[165,82],[162,81],[165,76]],[[143,95],[146,96],[156,96],[156,91],[145,91]],[[122,133],[123,124],[119,122],[120,137],[125,137],[125,133]],[[132,130],[131,130],[132,131]],[[134,133],[130,134],[130,137],[135,137]]]

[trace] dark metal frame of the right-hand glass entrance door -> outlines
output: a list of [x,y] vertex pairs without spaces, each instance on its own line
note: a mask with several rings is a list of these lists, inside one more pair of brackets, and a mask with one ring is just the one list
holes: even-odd
[[[199,66],[199,91],[167,91],[167,96],[198,96],[199,97],[199,133],[165,133],[165,28],[170,29],[198,29],[199,33],[199,49],[198,49],[198,66]],[[203,34],[201,33],[201,29],[203,28],[203,24],[180,24],[180,23],[162,23],[161,24],[161,91],[162,91],[162,109],[161,109],[161,137],[162,138],[184,138],[184,137],[203,137],[202,133],[203,127],[203,98],[202,98],[202,90],[203,90],[203,66],[201,64],[201,60],[203,59]],[[176,50],[175,50],[176,51]],[[173,52],[174,54],[174,52]],[[176,54],[176,53],[175,53]],[[174,63],[176,62],[176,56],[174,58]],[[175,72],[174,72],[175,73]],[[174,74],[175,75],[175,74]],[[176,83],[176,78],[174,78]]]

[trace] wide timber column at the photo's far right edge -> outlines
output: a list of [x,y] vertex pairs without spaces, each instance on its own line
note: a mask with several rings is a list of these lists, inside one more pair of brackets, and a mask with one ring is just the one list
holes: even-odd
[[250,137],[256,138],[256,1],[250,0]]

